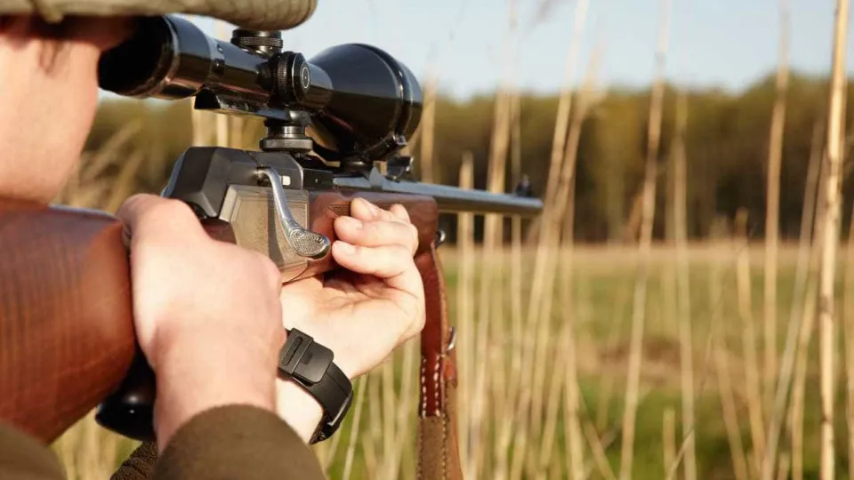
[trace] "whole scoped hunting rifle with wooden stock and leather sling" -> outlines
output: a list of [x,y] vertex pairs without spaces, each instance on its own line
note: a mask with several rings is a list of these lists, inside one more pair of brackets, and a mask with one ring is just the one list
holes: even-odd
[[[399,152],[418,126],[422,93],[388,53],[344,44],[306,60],[282,46],[279,32],[238,28],[224,42],[188,20],[149,17],[105,52],[99,82],[125,96],[195,97],[200,110],[264,119],[260,151],[188,148],[163,196],[189,204],[214,238],[268,255],[283,283],[339,268],[328,255],[333,220],[353,198],[407,208],[427,303],[420,477],[460,478],[439,212],[532,216],[543,205],[412,180],[412,158]],[[12,252],[0,270],[0,419],[44,442],[96,405],[102,426],[153,438],[154,373],[135,347],[122,234],[104,212],[0,201],[0,251]]]

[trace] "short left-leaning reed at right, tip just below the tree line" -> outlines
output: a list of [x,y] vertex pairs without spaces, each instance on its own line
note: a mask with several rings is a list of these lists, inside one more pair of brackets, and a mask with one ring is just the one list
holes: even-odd
[[718,380],[718,394],[721,396],[723,425],[727,430],[729,455],[732,458],[735,478],[736,480],[750,480],[747,473],[747,460],[745,460],[745,447],[741,442],[741,428],[738,425],[736,400],[732,393],[732,380],[729,377],[729,349],[722,326],[721,308],[718,306],[718,302],[722,298],[722,283],[721,267],[717,262],[712,262],[709,273],[709,300],[713,308],[709,323],[712,325],[713,335],[717,339],[714,348],[714,364],[715,376]]

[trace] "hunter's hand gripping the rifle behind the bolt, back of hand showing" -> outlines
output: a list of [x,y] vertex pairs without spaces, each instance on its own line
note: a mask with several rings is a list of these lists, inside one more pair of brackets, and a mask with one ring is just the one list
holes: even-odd
[[275,264],[212,240],[177,200],[133,196],[117,215],[130,236],[137,339],[157,374],[159,447],[215,406],[273,410],[285,341]]

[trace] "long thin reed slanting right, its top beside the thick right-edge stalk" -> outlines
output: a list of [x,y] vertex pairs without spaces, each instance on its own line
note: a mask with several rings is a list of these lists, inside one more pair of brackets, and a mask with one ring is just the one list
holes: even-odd
[[[813,229],[813,215],[816,211],[816,191],[818,188],[819,155],[821,152],[821,130],[818,124],[813,128],[810,158],[807,165],[807,181],[804,186],[803,206],[801,212],[801,232],[798,243],[798,254],[795,263],[794,293],[792,296],[792,309],[789,313],[788,326],[786,328],[786,347],[783,352],[783,361],[780,364],[780,372],[777,381],[777,392],[774,398],[773,410],[770,414],[768,427],[768,449],[762,460],[761,476],[763,480],[773,480],[773,467],[776,464],[777,443],[786,414],[786,400],[792,383],[795,357],[797,348],[800,346],[799,337],[802,332],[802,321],[804,318],[802,308],[807,277],[810,267],[810,245]],[[794,460],[794,459],[793,459]],[[800,461],[800,459],[798,459]]]

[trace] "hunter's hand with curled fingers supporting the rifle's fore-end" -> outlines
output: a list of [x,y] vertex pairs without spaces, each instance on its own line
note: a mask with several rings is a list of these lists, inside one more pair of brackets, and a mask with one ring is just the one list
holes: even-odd
[[418,232],[403,206],[385,211],[357,198],[350,215],[334,222],[332,255],[344,270],[285,285],[281,303],[286,326],[331,348],[352,379],[421,332],[424,288],[413,260]]

